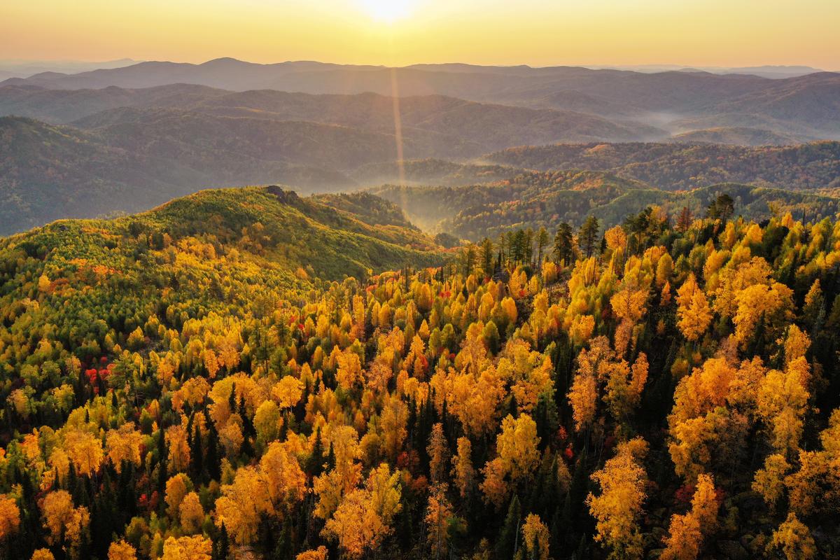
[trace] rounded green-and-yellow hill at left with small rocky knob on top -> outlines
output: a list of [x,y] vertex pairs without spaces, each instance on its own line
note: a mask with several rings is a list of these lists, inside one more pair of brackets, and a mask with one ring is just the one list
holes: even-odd
[[[356,196],[362,195],[345,198]],[[381,199],[380,207],[399,213]],[[166,275],[160,276],[163,263],[155,265],[160,254],[168,255],[175,275],[194,274],[192,264],[208,272],[231,266],[242,268],[250,283],[261,270],[257,278],[270,277],[271,285],[289,289],[307,285],[301,280],[363,278],[441,259],[433,240],[408,222],[376,226],[369,211],[354,213],[276,186],[200,191],[113,220],[60,220],[3,239],[2,250],[8,272],[16,270],[15,259],[29,256],[44,259],[47,269],[70,267],[74,274],[102,269],[129,282],[155,278],[148,285],[139,281],[138,289],[168,285]],[[186,259],[184,266],[179,259]],[[189,284],[176,285],[197,289]]]

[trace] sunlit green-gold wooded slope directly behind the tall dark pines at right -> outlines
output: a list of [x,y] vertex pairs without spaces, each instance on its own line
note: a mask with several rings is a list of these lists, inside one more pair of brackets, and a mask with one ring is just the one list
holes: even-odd
[[675,220],[683,207],[702,216],[719,194],[732,196],[736,215],[761,221],[773,213],[836,218],[840,199],[800,191],[722,183],[691,191],[662,191],[598,171],[547,171],[516,175],[507,181],[475,186],[381,186],[370,192],[402,207],[409,219],[431,232],[451,233],[478,242],[511,228],[544,227],[560,222],[577,228],[594,216],[601,228],[621,224],[628,214],[660,207]]

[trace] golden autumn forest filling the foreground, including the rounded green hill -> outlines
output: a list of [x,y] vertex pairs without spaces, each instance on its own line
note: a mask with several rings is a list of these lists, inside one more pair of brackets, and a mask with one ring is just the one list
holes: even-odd
[[0,558],[835,558],[840,222],[733,211],[441,266],[274,187],[4,238]]

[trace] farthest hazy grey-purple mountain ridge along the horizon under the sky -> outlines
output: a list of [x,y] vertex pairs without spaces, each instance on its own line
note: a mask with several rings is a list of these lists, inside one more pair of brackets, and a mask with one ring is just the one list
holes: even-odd
[[[656,128],[667,133],[746,127],[759,129],[759,138],[763,135],[776,138],[774,143],[785,141],[782,138],[787,133],[806,140],[840,139],[840,74],[809,72],[809,69],[799,67],[765,70],[777,73],[767,77],[668,67],[652,72],[458,63],[391,68],[306,60],[255,64],[221,58],[202,64],[149,61],[76,74],[46,72],[0,81],[0,89],[37,86],[46,90],[102,91],[113,86],[123,90],[144,90],[187,84],[230,92],[274,90],[315,95],[444,96],[585,113],[606,118],[615,126]],[[756,71],[761,73],[760,69]],[[788,74],[778,73],[784,71]],[[48,95],[31,89],[24,91],[32,97]],[[102,109],[113,108],[119,95],[126,96],[118,92],[103,93]],[[136,98],[144,94],[129,95]],[[146,100],[139,102],[140,105],[148,103]],[[24,103],[24,107],[28,106]],[[66,117],[60,113],[60,107],[56,111],[50,117]],[[30,113],[5,114],[41,118]],[[642,132],[632,139],[648,140],[650,135]]]

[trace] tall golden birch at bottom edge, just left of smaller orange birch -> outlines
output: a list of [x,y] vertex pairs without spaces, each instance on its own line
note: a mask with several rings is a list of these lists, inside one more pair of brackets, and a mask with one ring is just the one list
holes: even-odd
[[641,438],[620,444],[616,456],[591,477],[601,486],[601,495],[588,495],[586,505],[596,519],[595,540],[610,549],[611,560],[642,557],[638,517],[648,478],[638,460],[646,448]]

